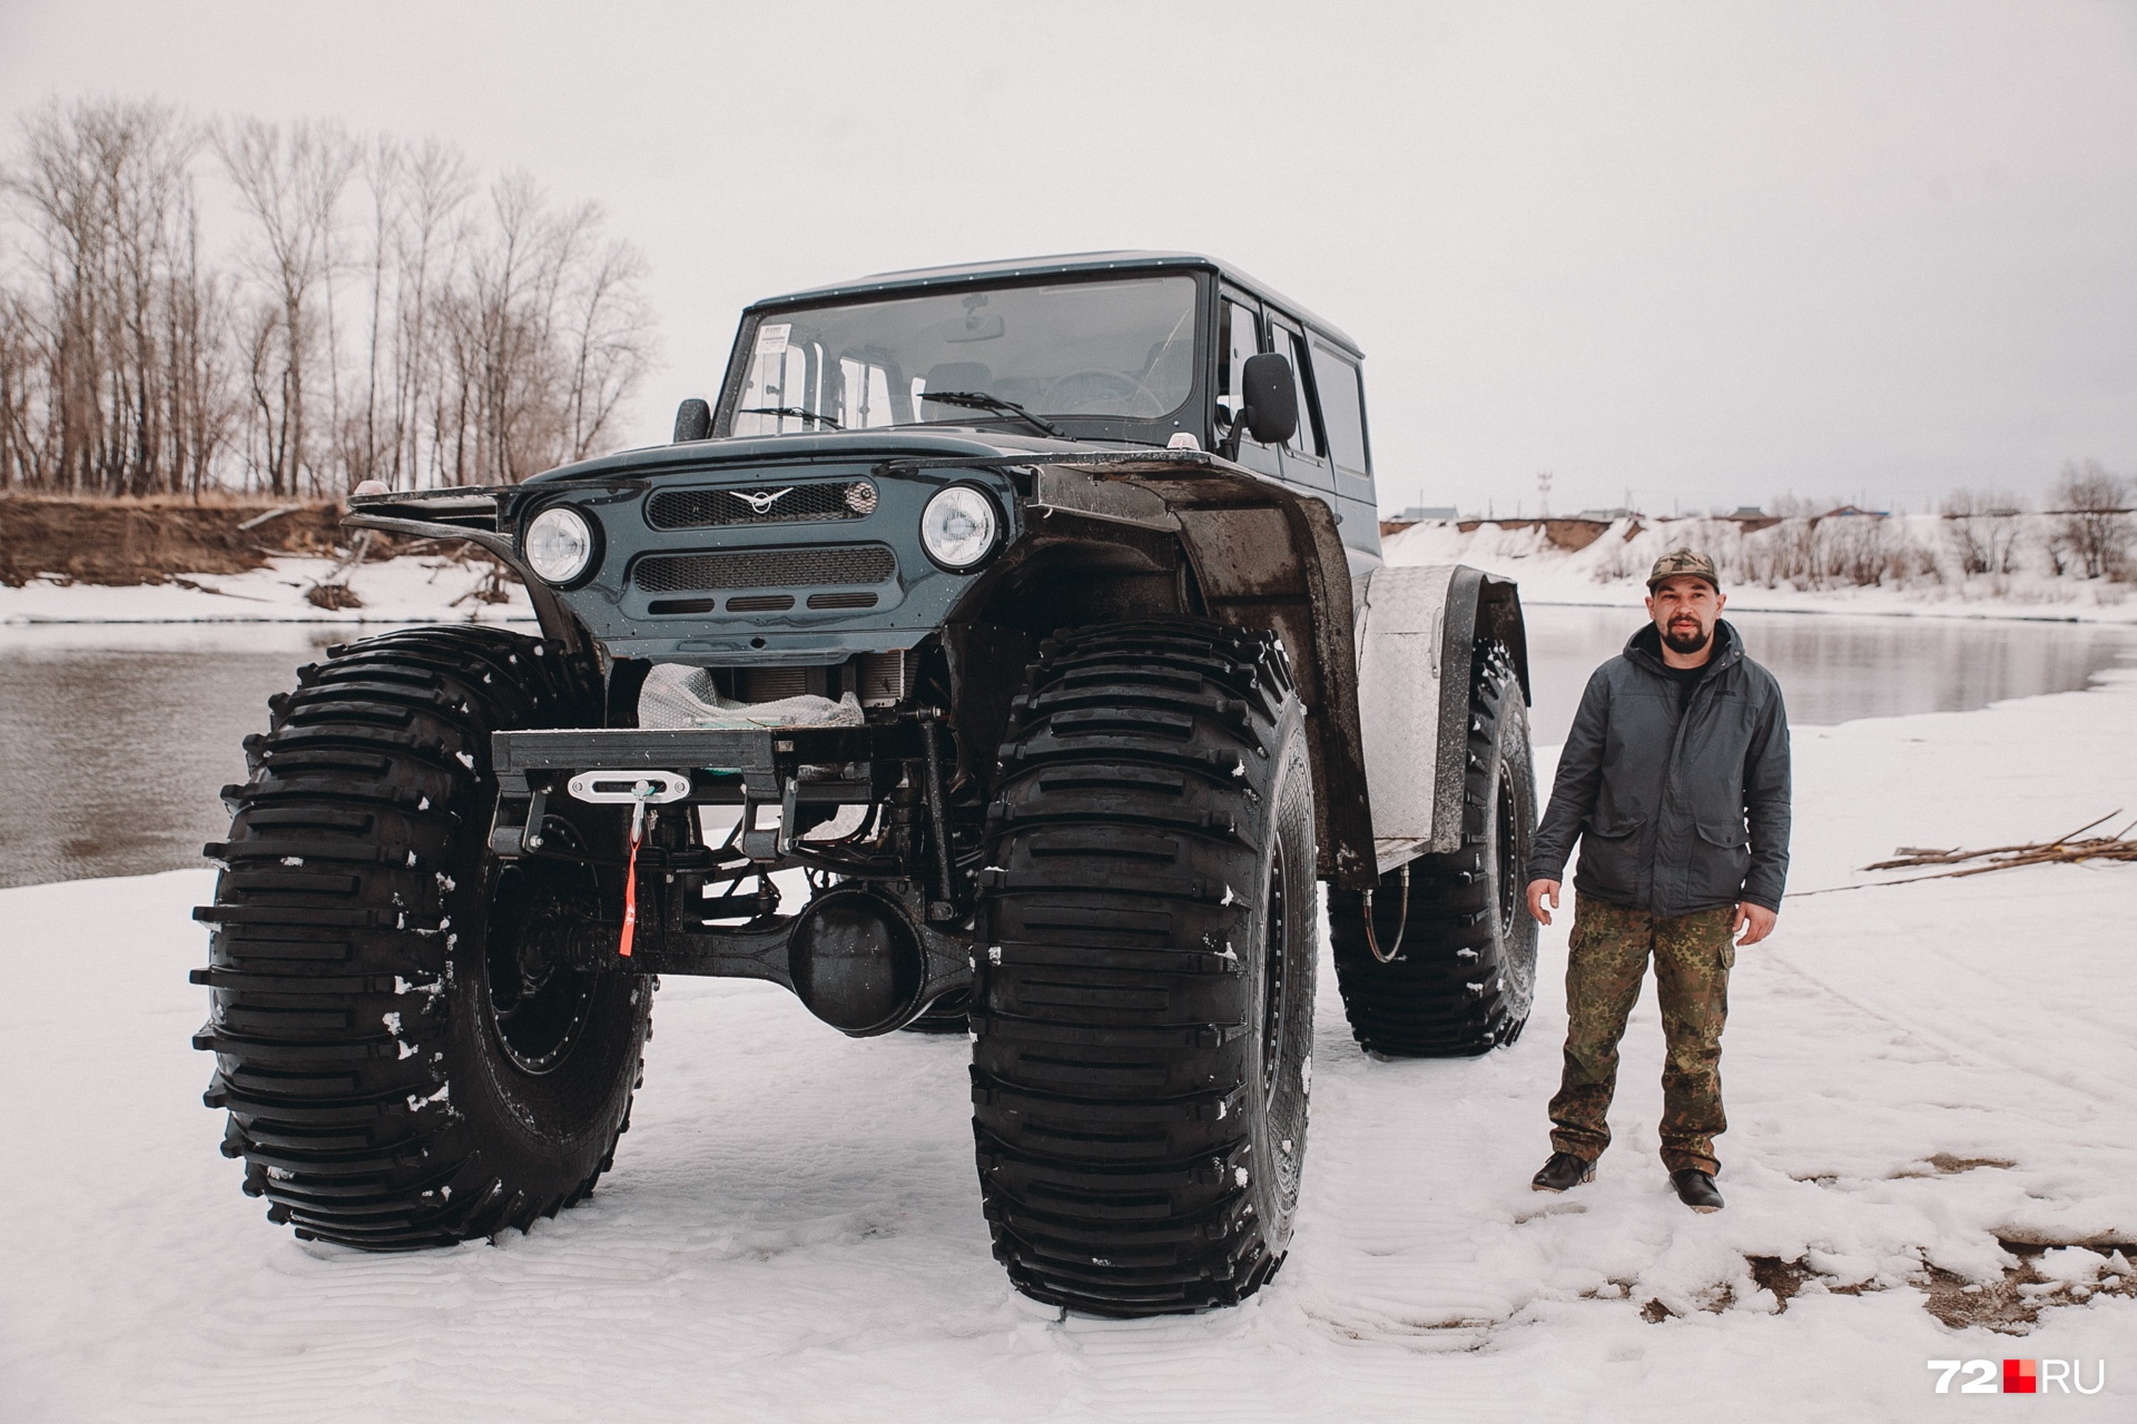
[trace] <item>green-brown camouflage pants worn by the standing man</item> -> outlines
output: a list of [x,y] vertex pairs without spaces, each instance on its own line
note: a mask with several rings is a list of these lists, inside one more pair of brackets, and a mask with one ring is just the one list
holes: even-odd
[[1618,1040],[1654,956],[1663,1001],[1663,1164],[1714,1172],[1722,1117],[1722,1020],[1729,1018],[1733,905],[1660,918],[1584,899],[1566,956],[1566,1067],[1551,1097],[1551,1146],[1594,1161],[1609,1146],[1609,1099],[1618,1087]]

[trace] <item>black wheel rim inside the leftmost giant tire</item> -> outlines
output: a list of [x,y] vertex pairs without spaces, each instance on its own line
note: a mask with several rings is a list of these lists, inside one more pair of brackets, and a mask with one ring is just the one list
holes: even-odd
[[521,1072],[556,1070],[592,1014],[594,976],[568,967],[573,931],[594,918],[590,901],[592,886],[573,884],[566,867],[504,865],[492,882],[485,1010],[492,1038]]

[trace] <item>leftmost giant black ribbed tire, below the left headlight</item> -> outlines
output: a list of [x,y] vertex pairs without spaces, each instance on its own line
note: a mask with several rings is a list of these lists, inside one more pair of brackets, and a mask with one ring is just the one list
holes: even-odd
[[598,679],[477,628],[329,649],[299,677],[246,739],[197,912],[222,1151],[303,1238],[423,1247],[556,1215],[628,1127],[654,984],[560,965],[575,922],[613,916],[590,871],[487,852],[489,732],[598,726]]

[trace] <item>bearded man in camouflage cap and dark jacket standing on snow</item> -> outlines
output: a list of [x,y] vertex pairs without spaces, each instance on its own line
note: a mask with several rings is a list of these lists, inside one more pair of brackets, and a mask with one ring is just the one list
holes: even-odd
[[[1648,574],[1654,619],[1581,694],[1528,858],[1528,912],[1551,922],[1581,841],[1566,959],[1566,1065],[1537,1191],[1594,1176],[1609,1146],[1618,1040],[1654,959],[1663,1001],[1663,1166],[1693,1211],[1720,1211],[1722,1020],[1737,944],[1759,944],[1789,875],[1789,715],[1774,675],[1720,619],[1714,559]],[[1545,907],[1549,901],[1549,907]],[[1735,935],[1742,931],[1742,939]]]

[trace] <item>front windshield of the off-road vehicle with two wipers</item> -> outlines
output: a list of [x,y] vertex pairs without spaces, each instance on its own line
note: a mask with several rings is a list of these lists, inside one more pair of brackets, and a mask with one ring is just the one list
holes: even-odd
[[[778,312],[759,322],[746,359],[735,436],[927,421],[1036,433],[1047,416],[1158,421],[1195,384],[1195,278]],[[932,401],[930,391],[962,399]]]

